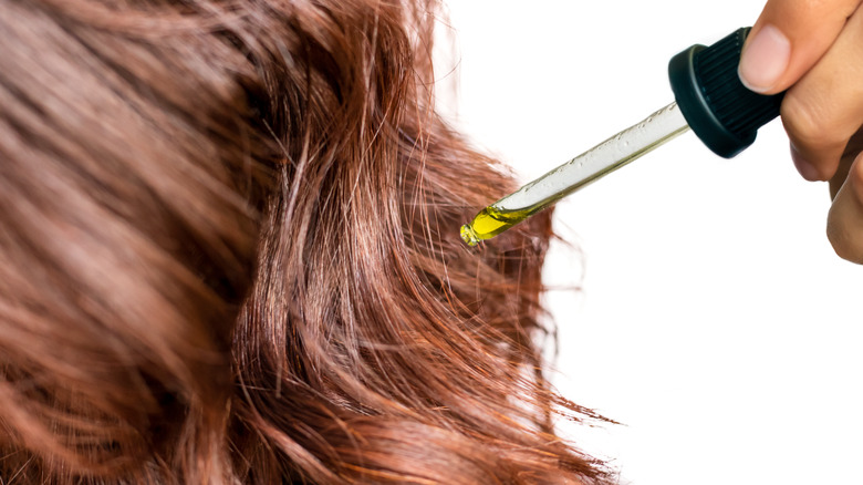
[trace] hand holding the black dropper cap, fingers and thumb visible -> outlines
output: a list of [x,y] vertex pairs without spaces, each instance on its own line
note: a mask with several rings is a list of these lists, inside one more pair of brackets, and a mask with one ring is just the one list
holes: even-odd
[[828,237],[863,264],[863,9],[861,0],[768,0],[749,33],[740,79],[788,90],[782,123],[809,180],[830,180]]

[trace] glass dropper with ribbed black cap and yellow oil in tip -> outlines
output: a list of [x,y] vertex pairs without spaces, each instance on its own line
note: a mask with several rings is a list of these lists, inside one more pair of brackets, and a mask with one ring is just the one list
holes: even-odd
[[719,156],[752,144],[758,128],[779,115],[782,94],[760,95],[742,85],[737,65],[749,28],[710,47],[693,45],[672,58],[675,102],[484,208],[461,226],[476,246],[692,128]]

